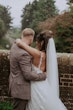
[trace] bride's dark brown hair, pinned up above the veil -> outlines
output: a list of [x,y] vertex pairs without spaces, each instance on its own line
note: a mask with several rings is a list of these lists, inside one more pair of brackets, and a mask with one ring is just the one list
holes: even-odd
[[53,32],[51,30],[45,30],[36,36],[36,41],[39,43],[42,42],[40,51],[46,52],[47,43],[48,43],[49,38],[51,38],[51,37],[53,37]]

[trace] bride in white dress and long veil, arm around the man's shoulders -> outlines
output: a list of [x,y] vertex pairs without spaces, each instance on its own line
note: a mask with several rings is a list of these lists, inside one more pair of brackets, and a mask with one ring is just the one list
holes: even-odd
[[67,110],[59,98],[58,66],[52,31],[45,31],[37,36],[37,49],[20,39],[16,43],[33,56],[32,69],[37,74],[46,71],[47,75],[45,81],[31,81],[31,100],[26,110]]

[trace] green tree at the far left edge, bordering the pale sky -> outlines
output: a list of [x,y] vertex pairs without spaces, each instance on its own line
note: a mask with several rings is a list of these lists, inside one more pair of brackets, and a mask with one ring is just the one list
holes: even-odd
[[10,29],[12,18],[10,16],[9,7],[0,5],[0,38]]

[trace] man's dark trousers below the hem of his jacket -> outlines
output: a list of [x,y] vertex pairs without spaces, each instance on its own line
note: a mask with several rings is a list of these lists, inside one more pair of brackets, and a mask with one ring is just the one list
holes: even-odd
[[22,100],[18,98],[13,99],[13,110],[26,110],[28,100]]

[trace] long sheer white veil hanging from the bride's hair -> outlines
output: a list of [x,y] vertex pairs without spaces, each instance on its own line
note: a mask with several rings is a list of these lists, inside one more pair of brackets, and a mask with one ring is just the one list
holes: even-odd
[[54,39],[50,38],[47,45],[47,79],[54,94],[59,97],[58,64]]

